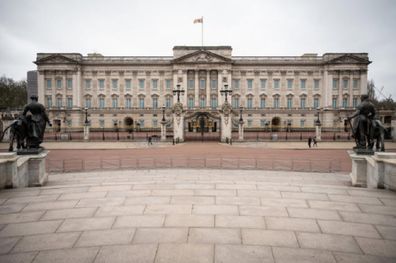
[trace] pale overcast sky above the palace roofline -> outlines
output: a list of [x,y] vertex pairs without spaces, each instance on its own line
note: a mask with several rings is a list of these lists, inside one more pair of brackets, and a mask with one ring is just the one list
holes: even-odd
[[26,78],[38,52],[171,56],[201,44],[201,16],[204,45],[233,55],[367,52],[369,79],[396,99],[393,0],[0,0],[0,75]]

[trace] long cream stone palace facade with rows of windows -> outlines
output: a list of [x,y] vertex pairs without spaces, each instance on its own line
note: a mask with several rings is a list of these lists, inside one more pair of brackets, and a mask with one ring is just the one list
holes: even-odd
[[126,117],[157,128],[163,106],[172,117],[179,87],[190,113],[219,111],[221,90],[232,90],[233,118],[242,108],[245,129],[312,128],[318,118],[326,129],[342,128],[367,93],[371,62],[367,53],[233,56],[230,46],[175,46],[173,56],[38,53],[34,63],[39,101],[62,128],[81,128],[86,108],[91,128],[122,128]]

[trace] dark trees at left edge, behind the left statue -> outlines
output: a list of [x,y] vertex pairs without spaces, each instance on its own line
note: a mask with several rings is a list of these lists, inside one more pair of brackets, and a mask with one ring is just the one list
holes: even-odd
[[26,80],[0,77],[0,110],[20,109],[27,103]]

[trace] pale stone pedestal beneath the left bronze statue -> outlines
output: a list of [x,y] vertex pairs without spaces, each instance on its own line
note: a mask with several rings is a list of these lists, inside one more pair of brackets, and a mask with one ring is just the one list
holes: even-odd
[[15,153],[0,156],[0,188],[42,186],[48,181],[45,158],[48,151],[35,155],[17,156]]

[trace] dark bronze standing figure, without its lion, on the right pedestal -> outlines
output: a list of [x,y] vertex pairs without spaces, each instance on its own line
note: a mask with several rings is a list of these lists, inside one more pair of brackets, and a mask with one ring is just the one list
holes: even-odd
[[352,137],[355,138],[357,153],[373,153],[374,146],[374,131],[376,127],[375,120],[375,107],[369,101],[368,95],[362,95],[361,103],[357,106],[357,111],[350,117],[348,121],[354,119],[352,126]]

